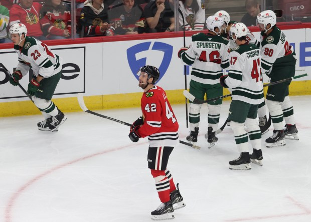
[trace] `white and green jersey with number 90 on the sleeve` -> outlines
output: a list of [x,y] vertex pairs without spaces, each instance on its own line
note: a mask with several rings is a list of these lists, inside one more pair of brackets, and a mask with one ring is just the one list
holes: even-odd
[[283,63],[285,56],[295,55],[294,50],[286,40],[285,34],[279,28],[274,27],[268,36],[261,32],[260,37],[261,71],[263,73],[269,72],[273,65]]

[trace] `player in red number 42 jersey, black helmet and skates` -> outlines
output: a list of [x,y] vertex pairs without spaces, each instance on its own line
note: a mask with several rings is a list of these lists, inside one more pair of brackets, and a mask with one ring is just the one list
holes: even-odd
[[[178,122],[167,98],[166,92],[154,83],[160,77],[156,67],[143,66],[138,74],[138,86],[143,89],[141,97],[142,117],[131,126],[128,137],[137,142],[139,138],[148,137],[148,168],[156,181],[156,188],[161,205],[151,212],[151,219],[173,219],[174,209],[186,204],[177,189],[170,171],[167,169],[169,157],[179,143]],[[174,205],[174,206],[173,206]]]

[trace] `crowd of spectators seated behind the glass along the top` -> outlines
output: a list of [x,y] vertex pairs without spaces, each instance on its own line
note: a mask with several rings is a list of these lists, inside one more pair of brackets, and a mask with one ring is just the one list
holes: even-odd
[[[39,40],[200,31],[216,11],[236,11],[219,7],[217,0],[1,0],[0,43],[11,42],[8,30],[19,22]],[[237,22],[256,26],[266,9],[277,10],[277,22],[311,22],[309,0],[246,0]]]

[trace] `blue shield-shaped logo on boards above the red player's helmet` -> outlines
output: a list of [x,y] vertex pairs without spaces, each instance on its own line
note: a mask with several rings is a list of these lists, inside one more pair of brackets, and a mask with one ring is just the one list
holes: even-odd
[[[163,58],[162,56],[159,58],[159,53],[163,54]],[[159,81],[160,81],[161,78],[166,73],[166,71],[168,70],[169,65],[171,63],[173,46],[162,42],[144,42],[128,48],[126,50],[126,54],[130,70],[132,71],[133,75],[137,80],[138,76],[136,74],[139,68],[145,65],[151,65],[156,66],[159,69],[160,71]],[[140,56],[142,57],[139,58]],[[147,59],[148,61],[151,61],[151,63],[148,62],[147,64]],[[157,65],[153,65],[154,63],[157,62],[160,63],[159,67]]]

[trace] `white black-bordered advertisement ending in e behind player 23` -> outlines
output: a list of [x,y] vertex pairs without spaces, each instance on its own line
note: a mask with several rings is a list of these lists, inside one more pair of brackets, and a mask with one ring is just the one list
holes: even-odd
[[[51,49],[53,53],[62,57],[62,76],[54,95],[76,94],[85,92],[85,47],[67,47]],[[18,65],[18,55],[15,51],[0,53],[2,63],[13,73]],[[20,84],[27,90],[28,83],[33,76],[33,70],[20,80]],[[9,76],[0,68],[0,100],[26,97],[18,86],[9,82]]]

